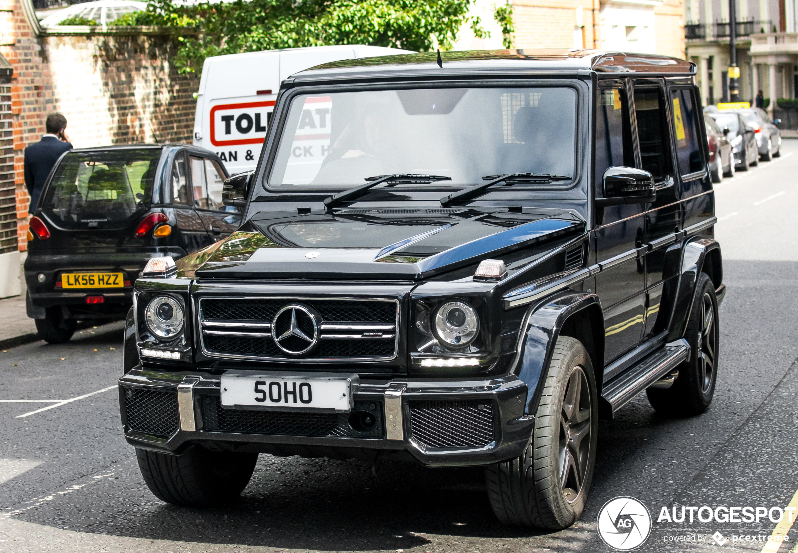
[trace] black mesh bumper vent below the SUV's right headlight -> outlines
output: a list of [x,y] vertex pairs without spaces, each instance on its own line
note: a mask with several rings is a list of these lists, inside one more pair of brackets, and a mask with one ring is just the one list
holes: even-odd
[[410,401],[410,433],[430,448],[482,447],[493,441],[490,401]]

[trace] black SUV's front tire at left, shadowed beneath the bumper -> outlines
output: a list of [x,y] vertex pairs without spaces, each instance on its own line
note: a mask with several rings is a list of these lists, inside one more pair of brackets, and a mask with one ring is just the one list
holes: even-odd
[[180,456],[136,448],[136,459],[159,500],[179,507],[216,507],[241,495],[258,454],[212,452],[196,445]]

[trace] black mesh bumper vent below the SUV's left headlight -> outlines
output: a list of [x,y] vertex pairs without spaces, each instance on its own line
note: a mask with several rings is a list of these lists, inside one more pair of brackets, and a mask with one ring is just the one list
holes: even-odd
[[124,413],[128,429],[152,436],[172,436],[180,427],[176,392],[125,388]]

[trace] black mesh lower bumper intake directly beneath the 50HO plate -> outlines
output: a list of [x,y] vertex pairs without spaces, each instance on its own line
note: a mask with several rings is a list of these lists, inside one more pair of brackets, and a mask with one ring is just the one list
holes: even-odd
[[223,409],[219,397],[211,396],[204,396],[201,405],[205,432],[358,438],[381,438],[384,435],[379,401],[354,402],[353,411],[368,410],[377,417],[377,424],[368,432],[358,432],[350,426],[350,413]]

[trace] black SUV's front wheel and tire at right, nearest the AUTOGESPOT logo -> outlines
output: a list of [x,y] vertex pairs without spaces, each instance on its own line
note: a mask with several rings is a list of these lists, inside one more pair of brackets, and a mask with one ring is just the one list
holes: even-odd
[[[574,394],[579,395],[577,408]],[[587,350],[575,338],[560,337],[535,414],[534,434],[521,456],[485,468],[488,499],[502,523],[560,530],[579,519],[593,479],[598,417]]]

